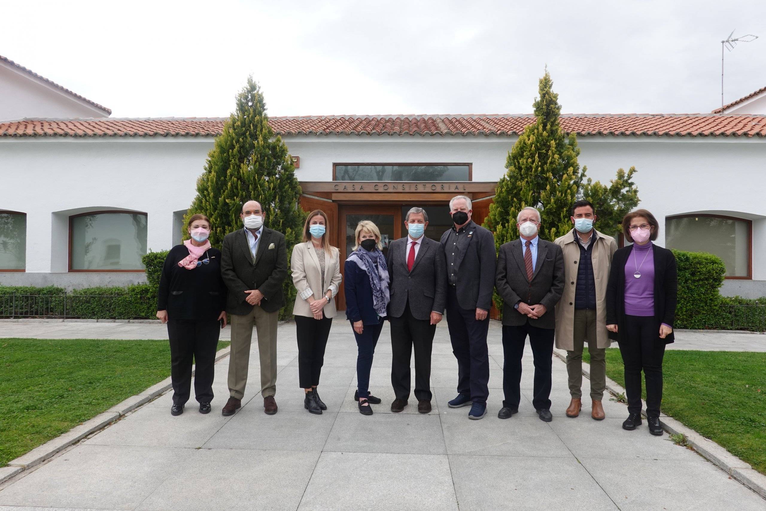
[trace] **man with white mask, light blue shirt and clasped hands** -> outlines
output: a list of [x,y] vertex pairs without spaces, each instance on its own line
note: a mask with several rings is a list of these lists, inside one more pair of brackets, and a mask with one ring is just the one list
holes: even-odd
[[507,419],[519,411],[522,355],[529,336],[535,359],[532,405],[542,421],[552,421],[551,371],[555,306],[564,292],[564,255],[561,247],[541,240],[540,212],[524,208],[516,217],[521,239],[502,244],[497,261],[496,287],[502,296],[502,389],[505,400],[497,416]]

